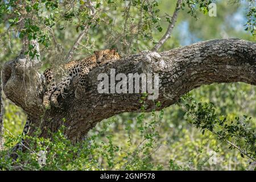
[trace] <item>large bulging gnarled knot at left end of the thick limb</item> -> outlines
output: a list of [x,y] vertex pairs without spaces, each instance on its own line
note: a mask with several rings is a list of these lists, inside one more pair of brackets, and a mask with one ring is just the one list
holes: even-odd
[[44,79],[36,71],[40,61],[31,61],[20,54],[2,68],[3,92],[28,114],[42,114],[42,92]]

